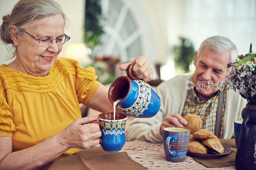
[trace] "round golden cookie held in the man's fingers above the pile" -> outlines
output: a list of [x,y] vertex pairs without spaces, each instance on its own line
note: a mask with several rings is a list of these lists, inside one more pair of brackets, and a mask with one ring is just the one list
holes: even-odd
[[191,131],[191,134],[193,134],[194,132],[198,131],[201,128],[202,120],[198,115],[188,114],[185,115],[183,118],[188,122],[188,124],[184,127],[186,129],[189,129]]

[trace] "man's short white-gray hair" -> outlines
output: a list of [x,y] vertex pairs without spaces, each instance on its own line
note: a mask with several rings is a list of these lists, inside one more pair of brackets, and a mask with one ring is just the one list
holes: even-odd
[[197,56],[201,53],[204,48],[210,48],[215,52],[224,53],[230,51],[229,61],[235,61],[238,55],[236,45],[228,38],[223,36],[213,36],[205,39],[198,49]]

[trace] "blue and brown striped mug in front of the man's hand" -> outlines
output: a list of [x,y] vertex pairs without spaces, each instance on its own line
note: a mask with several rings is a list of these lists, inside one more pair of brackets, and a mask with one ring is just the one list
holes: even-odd
[[190,130],[179,127],[167,127],[163,130],[163,138],[166,160],[182,162],[188,152]]

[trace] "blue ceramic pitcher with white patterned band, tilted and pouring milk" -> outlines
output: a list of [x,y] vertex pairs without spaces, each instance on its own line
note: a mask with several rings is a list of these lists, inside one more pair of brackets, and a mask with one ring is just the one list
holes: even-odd
[[[116,100],[117,107],[127,116],[149,118],[156,115],[161,106],[161,99],[151,86],[138,80],[132,74],[133,64],[127,67],[127,76],[118,77],[110,85],[108,99],[113,104]],[[130,80],[132,79],[132,80]]]

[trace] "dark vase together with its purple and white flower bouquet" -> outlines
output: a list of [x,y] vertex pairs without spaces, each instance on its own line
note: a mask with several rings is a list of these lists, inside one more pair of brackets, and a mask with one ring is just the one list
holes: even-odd
[[252,44],[249,53],[238,55],[227,67],[231,70],[224,89],[237,90],[248,102],[242,110],[244,120],[237,145],[236,169],[256,169],[256,53],[252,53]]

